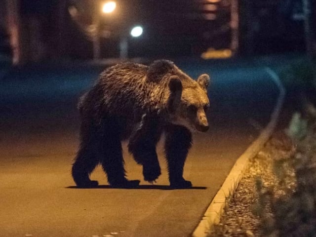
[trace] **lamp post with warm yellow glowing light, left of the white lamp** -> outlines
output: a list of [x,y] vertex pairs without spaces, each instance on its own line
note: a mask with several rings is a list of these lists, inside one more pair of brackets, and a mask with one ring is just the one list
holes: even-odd
[[[116,2],[115,1],[107,1],[104,2],[101,5],[102,13],[104,14],[110,14],[112,13],[116,8]],[[93,60],[100,59],[100,4],[95,5],[94,10],[94,18],[93,18]]]

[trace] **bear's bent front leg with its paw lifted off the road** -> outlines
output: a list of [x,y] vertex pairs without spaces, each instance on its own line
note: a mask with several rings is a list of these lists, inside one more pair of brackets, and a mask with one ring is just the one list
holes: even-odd
[[153,183],[161,174],[156,145],[161,135],[158,119],[143,115],[136,124],[128,143],[128,151],[138,164],[143,165],[144,180]]

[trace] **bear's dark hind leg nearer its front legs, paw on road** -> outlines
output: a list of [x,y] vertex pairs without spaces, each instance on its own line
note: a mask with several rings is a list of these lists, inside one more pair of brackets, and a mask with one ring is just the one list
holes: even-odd
[[98,155],[109,184],[114,188],[136,188],[140,183],[139,180],[126,179],[122,147],[118,135],[113,134],[108,139],[102,139],[102,142]]

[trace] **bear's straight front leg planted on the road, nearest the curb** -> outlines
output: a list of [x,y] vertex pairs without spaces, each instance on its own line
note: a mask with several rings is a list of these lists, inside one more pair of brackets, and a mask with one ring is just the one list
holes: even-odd
[[183,167],[192,146],[192,134],[187,128],[173,124],[167,126],[165,133],[164,148],[170,187],[174,189],[190,188],[192,187],[191,182],[183,178]]

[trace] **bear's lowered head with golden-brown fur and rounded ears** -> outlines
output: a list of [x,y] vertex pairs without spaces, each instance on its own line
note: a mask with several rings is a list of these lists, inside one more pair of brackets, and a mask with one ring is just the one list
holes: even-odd
[[207,87],[210,78],[202,74],[197,81],[184,73],[169,78],[170,94],[167,109],[170,122],[191,131],[206,132],[209,128],[206,111],[209,108]]

